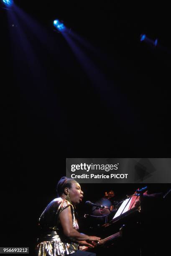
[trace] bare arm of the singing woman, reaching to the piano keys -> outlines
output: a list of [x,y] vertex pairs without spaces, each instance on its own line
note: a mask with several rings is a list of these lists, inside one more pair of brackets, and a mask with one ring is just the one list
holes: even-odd
[[97,236],[87,236],[85,234],[79,233],[76,229],[73,228],[72,223],[72,214],[71,214],[71,208],[66,207],[61,213],[59,214],[59,220],[61,223],[61,226],[63,228],[64,235],[67,237],[74,238],[78,241],[100,241],[100,237]]

